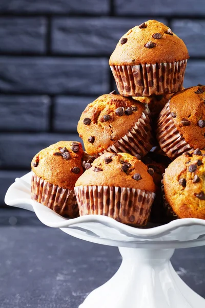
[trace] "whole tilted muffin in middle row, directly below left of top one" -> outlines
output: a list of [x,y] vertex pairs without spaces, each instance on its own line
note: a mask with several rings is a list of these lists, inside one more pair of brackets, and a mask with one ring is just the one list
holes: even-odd
[[145,156],[153,144],[151,130],[148,108],[113,92],[90,103],[77,126],[86,151],[95,157],[104,152]]

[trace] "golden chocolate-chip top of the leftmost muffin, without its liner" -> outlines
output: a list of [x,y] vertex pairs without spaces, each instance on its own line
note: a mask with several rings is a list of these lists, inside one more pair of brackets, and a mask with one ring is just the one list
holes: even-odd
[[72,190],[84,172],[83,156],[80,142],[59,141],[37,153],[31,168],[36,176],[47,182]]

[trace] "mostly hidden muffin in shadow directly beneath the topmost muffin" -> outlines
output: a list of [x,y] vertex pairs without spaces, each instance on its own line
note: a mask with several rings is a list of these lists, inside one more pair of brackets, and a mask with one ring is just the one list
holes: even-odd
[[173,94],[151,95],[150,97],[133,97],[133,99],[146,104],[150,110],[152,119],[155,120],[172,95]]

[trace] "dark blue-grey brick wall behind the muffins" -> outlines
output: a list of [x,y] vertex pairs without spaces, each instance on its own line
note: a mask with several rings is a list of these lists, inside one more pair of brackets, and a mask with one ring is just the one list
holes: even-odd
[[108,65],[119,38],[149,19],[187,44],[185,87],[205,83],[203,0],[0,1],[0,206],[37,151],[79,140],[81,112],[114,89]]

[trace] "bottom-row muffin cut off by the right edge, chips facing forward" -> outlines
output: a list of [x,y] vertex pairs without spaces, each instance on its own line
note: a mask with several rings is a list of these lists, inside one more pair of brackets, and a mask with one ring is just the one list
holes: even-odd
[[176,158],[163,178],[165,198],[179,218],[205,219],[205,151]]

